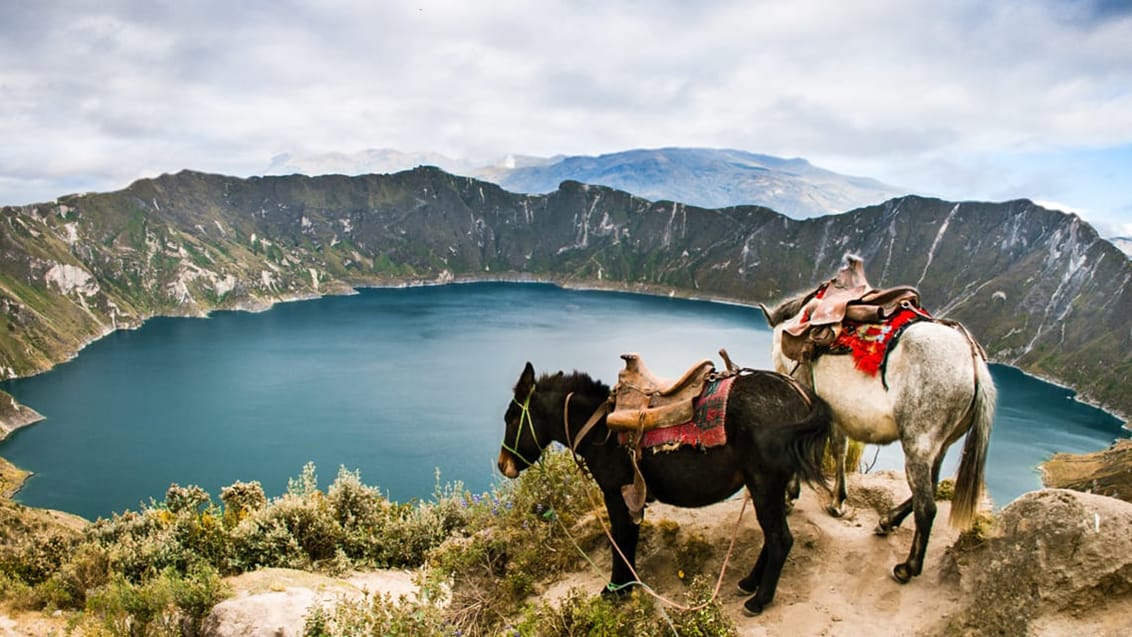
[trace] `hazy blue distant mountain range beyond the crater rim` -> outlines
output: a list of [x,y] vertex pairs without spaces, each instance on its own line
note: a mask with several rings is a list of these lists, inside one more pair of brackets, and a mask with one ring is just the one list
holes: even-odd
[[607,186],[653,201],[704,208],[765,206],[807,218],[880,204],[908,190],[874,179],[847,177],[806,160],[783,160],[718,148],[657,148],[591,156],[508,156],[491,164],[436,153],[371,149],[354,154],[280,155],[266,174],[392,173],[418,165],[498,183],[513,192],[544,193],[573,180]]

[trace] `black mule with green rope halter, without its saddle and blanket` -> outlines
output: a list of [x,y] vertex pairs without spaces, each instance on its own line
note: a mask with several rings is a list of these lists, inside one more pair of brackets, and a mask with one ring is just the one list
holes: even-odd
[[[499,471],[507,477],[517,477],[551,442],[569,446],[608,397],[609,387],[588,375],[558,372],[535,379],[534,368],[526,363],[507,407]],[[724,446],[644,454],[640,466],[650,498],[678,507],[703,507],[747,488],[764,542],[754,568],[739,582],[739,589],[753,595],[745,610],[757,614],[774,599],[794,543],[786,518],[787,484],[799,475],[826,487],[821,460],[831,416],[822,399],[788,377],[753,371],[735,379],[726,419]],[[626,558],[621,559],[614,550],[607,592],[634,583],[641,530],[631,520],[621,498],[621,485],[633,482],[633,467],[625,448],[616,441],[617,436],[610,434],[602,418],[577,444],[578,456],[604,496],[612,539]]]

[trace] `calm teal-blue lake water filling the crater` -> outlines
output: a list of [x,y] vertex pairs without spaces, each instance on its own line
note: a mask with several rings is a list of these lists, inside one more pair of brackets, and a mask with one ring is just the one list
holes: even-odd
[[[503,413],[526,361],[611,384],[621,352],[672,377],[703,358],[718,362],[720,347],[738,364],[770,367],[762,312],[477,283],[160,318],[48,373],[0,384],[48,418],[0,444],[0,456],[35,473],[18,500],[91,519],[161,500],[174,482],[217,501],[235,481],[258,480],[277,496],[308,462],[324,485],[345,466],[398,501],[429,498],[438,471],[440,483],[483,491],[503,480]],[[1050,454],[1127,436],[1067,389],[1001,365],[993,373],[1000,401],[987,484],[997,506],[1040,488],[1035,466]],[[874,466],[902,464],[889,446]]]

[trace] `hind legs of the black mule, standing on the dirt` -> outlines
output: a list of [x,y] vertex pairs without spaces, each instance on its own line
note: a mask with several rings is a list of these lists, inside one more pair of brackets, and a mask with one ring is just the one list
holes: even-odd
[[754,594],[743,604],[743,612],[747,616],[762,613],[763,609],[774,600],[782,566],[794,545],[794,535],[790,534],[790,527],[786,522],[788,480],[789,476],[786,475],[760,480],[755,488],[751,489],[758,526],[763,530],[763,548],[751,574],[739,580],[740,593]]

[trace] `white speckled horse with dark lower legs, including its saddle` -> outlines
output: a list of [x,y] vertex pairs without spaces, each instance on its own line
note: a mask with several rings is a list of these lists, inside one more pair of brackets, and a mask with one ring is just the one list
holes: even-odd
[[[832,515],[843,514],[848,497],[846,437],[875,445],[900,441],[911,497],[881,517],[876,533],[886,535],[915,514],[908,559],[892,569],[897,582],[909,582],[924,568],[944,455],[964,433],[951,525],[970,528],[978,509],[996,397],[981,347],[958,322],[932,318],[920,309],[915,290],[871,289],[860,259],[851,255],[835,278],[763,311],[774,330],[771,358],[775,369],[806,384],[833,411],[830,448],[837,460],[837,482],[827,509]],[[869,329],[854,319],[871,315],[866,324],[893,317],[915,320],[899,328],[892,322],[875,328],[875,334],[890,341],[883,353],[876,353],[872,369],[856,355],[830,352],[841,335]],[[809,324],[815,329],[809,330]]]

